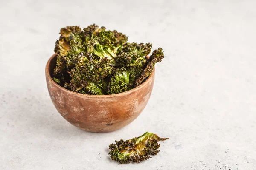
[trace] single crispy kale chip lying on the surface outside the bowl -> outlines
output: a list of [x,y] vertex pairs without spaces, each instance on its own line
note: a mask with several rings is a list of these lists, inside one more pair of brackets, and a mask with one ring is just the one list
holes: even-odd
[[115,141],[114,144],[109,145],[111,151],[108,154],[119,164],[139,163],[150,158],[150,155],[157,155],[159,153],[157,149],[160,147],[157,142],[166,139],[169,138],[160,138],[154,133],[146,132],[133,139]]

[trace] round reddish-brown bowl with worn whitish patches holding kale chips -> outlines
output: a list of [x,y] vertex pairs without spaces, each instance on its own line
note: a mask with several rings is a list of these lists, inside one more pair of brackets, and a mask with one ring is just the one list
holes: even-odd
[[154,85],[154,71],[140,86],[123,93],[87,95],[69,91],[52,80],[56,54],[47,62],[47,88],[58,112],[72,125],[90,132],[111,132],[125,127],[143,111]]

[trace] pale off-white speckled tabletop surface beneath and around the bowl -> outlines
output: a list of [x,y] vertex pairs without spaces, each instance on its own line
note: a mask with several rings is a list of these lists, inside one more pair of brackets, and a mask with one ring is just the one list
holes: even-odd
[[[0,1],[0,169],[255,170],[255,6],[253,0]],[[145,110],[112,133],[65,121],[44,77],[59,29],[92,23],[165,52]],[[157,156],[140,164],[110,160],[109,143],[145,131],[170,138]]]

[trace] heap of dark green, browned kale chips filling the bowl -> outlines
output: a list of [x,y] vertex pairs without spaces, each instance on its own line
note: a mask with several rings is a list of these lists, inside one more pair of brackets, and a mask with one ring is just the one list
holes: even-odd
[[56,41],[53,80],[81,94],[117,94],[137,87],[163,59],[162,48],[151,53],[150,43],[129,43],[122,33],[95,24],[61,28]]

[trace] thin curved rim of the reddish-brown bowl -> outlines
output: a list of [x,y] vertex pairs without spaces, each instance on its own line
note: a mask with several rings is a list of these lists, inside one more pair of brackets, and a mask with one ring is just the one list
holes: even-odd
[[[149,84],[149,82],[151,82],[151,79],[154,78],[154,74],[155,74],[155,68],[153,70],[153,72],[148,76],[148,78],[145,80],[145,82],[143,82],[141,85],[137,86],[136,88],[133,88],[131,90],[128,90],[128,91],[125,91],[125,92],[122,92],[122,93],[118,93],[118,94],[106,94],[106,95],[93,95],[93,94],[81,94],[81,93],[77,93],[75,91],[70,91],[64,87],[62,87],[61,85],[58,85],[53,79],[52,79],[52,76],[49,72],[49,69],[50,69],[50,63],[52,62],[52,59],[54,59],[55,57],[57,57],[57,53],[53,54],[47,61],[47,64],[45,66],[45,74],[46,74],[46,77],[54,84],[54,85],[57,85],[58,88],[66,91],[67,93],[69,94],[75,94],[75,95],[78,95],[78,96],[86,96],[86,97],[115,97],[115,96],[123,96],[123,95],[128,95],[134,91],[138,91],[140,90],[141,88],[145,87],[146,85]],[[154,79],[153,79],[154,80]]]

